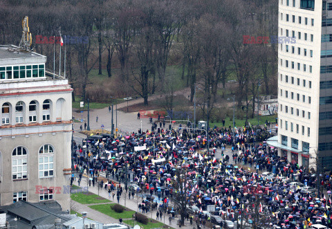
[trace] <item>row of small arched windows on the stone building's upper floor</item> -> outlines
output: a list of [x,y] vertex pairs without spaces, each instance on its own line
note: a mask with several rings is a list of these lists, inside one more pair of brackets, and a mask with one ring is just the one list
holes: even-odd
[[[24,114],[25,114],[25,104],[24,102],[17,102],[15,105],[15,123],[22,124],[24,122]],[[44,100],[43,102],[43,121],[50,121],[50,100]],[[2,125],[10,124],[10,104],[5,102],[2,105]],[[29,104],[29,119],[26,122],[37,122],[37,102],[35,100],[31,101]]]

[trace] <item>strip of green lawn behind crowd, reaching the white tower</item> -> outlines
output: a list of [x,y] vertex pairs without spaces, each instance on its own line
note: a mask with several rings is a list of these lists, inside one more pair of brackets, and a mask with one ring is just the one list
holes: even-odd
[[[270,123],[275,123],[275,118],[277,118],[277,115],[259,116],[259,125],[264,125],[266,120],[270,121]],[[236,127],[242,128],[243,125],[244,125],[244,122],[246,122],[246,118],[243,118],[243,119],[235,118],[235,126]],[[255,118],[248,118],[248,122],[250,122],[250,124],[252,126],[257,125],[257,123],[258,123],[257,116],[255,116]],[[216,125],[217,127],[222,127],[223,122],[213,122],[213,123],[210,122],[210,127],[214,127],[214,125]],[[233,118],[232,117],[225,118],[225,127],[229,127],[229,125],[231,127],[233,127]]]

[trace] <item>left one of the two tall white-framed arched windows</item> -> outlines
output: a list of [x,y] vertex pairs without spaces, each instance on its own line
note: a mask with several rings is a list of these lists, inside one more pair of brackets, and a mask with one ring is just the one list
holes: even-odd
[[24,147],[19,146],[12,151],[12,178],[28,178],[28,156]]

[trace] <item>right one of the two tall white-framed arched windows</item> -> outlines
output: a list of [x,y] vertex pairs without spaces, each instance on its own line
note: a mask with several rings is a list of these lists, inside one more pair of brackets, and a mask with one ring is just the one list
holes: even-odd
[[39,149],[39,178],[54,176],[54,151],[51,145],[43,145]]

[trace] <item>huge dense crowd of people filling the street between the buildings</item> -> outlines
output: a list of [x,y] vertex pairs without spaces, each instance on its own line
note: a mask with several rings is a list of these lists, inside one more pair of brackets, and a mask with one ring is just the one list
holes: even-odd
[[[230,127],[215,127],[208,136],[187,129],[158,131],[87,138],[74,147],[75,168],[92,176],[104,171],[109,178],[104,187],[109,193],[116,191],[118,200],[123,188],[129,198],[145,196],[151,203],[142,201],[140,210],[152,210],[155,203],[157,217],[164,212],[169,221],[172,214],[180,214],[202,227],[219,215],[256,228],[308,228],[312,223],[332,226],[332,174],[322,175],[322,192],[303,192],[302,183],[315,187],[317,176],[288,163],[278,156],[277,149],[268,147],[265,141],[273,133],[266,127],[243,127],[234,133]],[[176,186],[179,170],[185,176],[181,180],[188,203],[185,210],[175,201],[180,190]],[[208,213],[211,205],[214,211]]]

